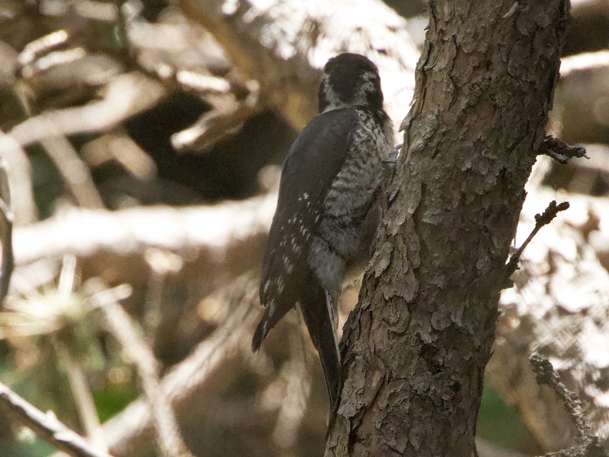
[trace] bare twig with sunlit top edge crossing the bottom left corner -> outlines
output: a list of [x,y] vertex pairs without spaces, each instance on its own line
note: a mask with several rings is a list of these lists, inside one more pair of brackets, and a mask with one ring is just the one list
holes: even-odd
[[0,383],[0,402],[8,414],[31,428],[38,438],[71,456],[111,457],[59,422],[51,411],[43,413],[2,383]]

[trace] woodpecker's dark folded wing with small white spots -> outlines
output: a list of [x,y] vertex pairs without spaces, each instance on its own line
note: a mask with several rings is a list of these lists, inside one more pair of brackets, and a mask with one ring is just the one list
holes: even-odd
[[353,108],[312,119],[290,147],[281,174],[279,199],[262,260],[260,302],[264,316],[252,341],[258,350],[271,328],[317,284],[308,265],[308,246],[323,200],[351,147],[359,115]]

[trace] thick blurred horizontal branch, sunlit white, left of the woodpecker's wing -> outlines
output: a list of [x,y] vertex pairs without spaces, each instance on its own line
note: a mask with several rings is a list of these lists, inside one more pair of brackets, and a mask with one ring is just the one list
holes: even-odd
[[[121,211],[70,210],[13,234],[15,262],[32,263],[71,252],[144,254],[148,247],[175,252],[208,248],[218,252],[263,237],[270,227],[276,194],[210,207],[149,207]],[[262,241],[262,240],[261,240]]]

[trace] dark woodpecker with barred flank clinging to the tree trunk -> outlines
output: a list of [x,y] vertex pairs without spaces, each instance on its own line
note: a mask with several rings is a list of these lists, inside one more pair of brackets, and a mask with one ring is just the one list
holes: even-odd
[[376,65],[351,53],[328,60],[319,112],[283,165],[262,260],[264,315],[252,350],[298,303],[322,362],[332,417],[342,389],[337,302],[343,283],[370,258],[380,216],[376,199],[392,158],[393,126]]

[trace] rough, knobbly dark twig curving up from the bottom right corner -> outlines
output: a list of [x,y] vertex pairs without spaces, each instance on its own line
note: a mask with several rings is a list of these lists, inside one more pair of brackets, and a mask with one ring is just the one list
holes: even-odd
[[601,447],[599,440],[592,434],[585,419],[582,402],[575,392],[569,391],[561,383],[554,367],[546,357],[533,353],[529,357],[533,371],[537,375],[538,384],[549,386],[565,405],[571,420],[577,429],[577,444],[568,450],[547,453],[544,457],[607,457],[607,452]]

